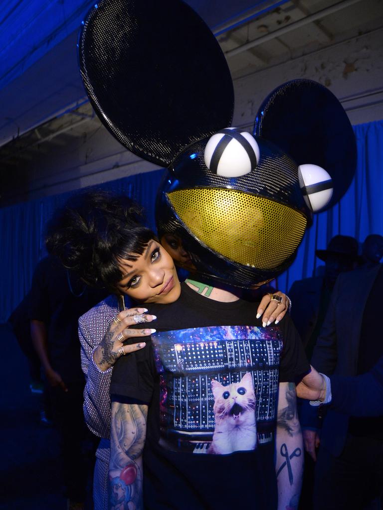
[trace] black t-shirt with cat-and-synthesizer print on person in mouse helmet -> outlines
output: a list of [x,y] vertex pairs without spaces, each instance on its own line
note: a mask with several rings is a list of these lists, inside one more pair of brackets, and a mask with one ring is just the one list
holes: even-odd
[[292,321],[262,328],[255,303],[186,284],[175,303],[147,308],[157,332],[111,381],[112,400],[149,404],[145,507],[276,508],[278,382],[309,369]]

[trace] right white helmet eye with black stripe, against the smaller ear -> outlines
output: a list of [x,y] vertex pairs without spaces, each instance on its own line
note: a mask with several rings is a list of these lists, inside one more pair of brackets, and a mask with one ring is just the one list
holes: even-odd
[[312,164],[300,165],[298,179],[303,198],[313,213],[327,206],[332,197],[333,184],[324,168]]

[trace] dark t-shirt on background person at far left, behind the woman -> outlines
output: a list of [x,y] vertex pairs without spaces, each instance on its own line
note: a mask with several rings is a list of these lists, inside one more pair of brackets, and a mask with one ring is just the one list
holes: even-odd
[[64,381],[81,380],[78,319],[108,293],[90,289],[74,273],[68,273],[53,256],[36,266],[30,291],[28,318],[47,328],[50,362]]

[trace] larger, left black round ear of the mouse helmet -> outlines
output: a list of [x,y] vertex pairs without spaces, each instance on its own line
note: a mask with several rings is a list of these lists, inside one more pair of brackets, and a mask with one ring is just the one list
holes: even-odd
[[81,76],[112,135],[169,164],[189,143],[231,124],[233,85],[205,22],[179,0],[101,0],[79,38]]

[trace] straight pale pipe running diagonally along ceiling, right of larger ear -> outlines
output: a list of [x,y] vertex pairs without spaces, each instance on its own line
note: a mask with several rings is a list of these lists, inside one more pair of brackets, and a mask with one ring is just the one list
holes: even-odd
[[358,2],[361,2],[361,0],[343,0],[343,2],[339,2],[338,4],[332,5],[331,7],[327,7],[326,9],[322,9],[321,11],[315,12],[314,14],[310,14],[309,16],[306,16],[305,18],[302,18],[302,19],[299,19],[298,21],[290,23],[286,27],[282,27],[278,30],[275,30],[274,32],[271,32],[270,34],[266,34],[262,37],[258,37],[258,39],[254,39],[253,41],[249,41],[246,44],[242,44],[241,46],[238,46],[234,49],[230,49],[228,52],[225,53],[225,56],[227,58],[229,58],[229,57],[233,57],[234,55],[238,55],[242,52],[246,52],[246,50],[248,50],[250,48],[259,46],[260,44],[262,44],[264,42],[275,39],[276,37],[280,37],[283,34],[292,32],[293,30],[297,30],[301,27],[304,27],[304,25],[306,25],[308,23],[312,23],[313,21],[316,21],[317,19],[324,18],[325,16],[328,16],[329,14],[333,14],[334,12],[345,9],[346,7],[349,7],[353,4],[357,4]]

